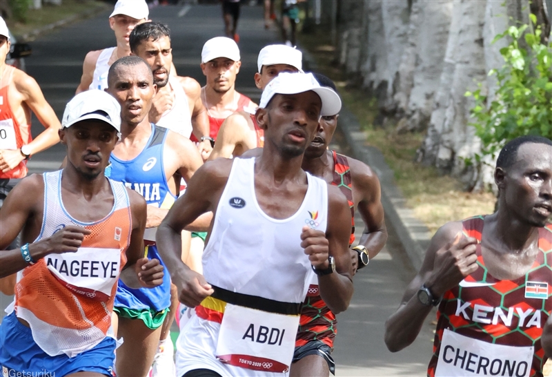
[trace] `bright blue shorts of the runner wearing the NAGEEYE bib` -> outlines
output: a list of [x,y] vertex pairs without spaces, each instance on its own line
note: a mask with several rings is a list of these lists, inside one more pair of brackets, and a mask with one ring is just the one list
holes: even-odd
[[6,316],[0,325],[0,369],[3,376],[24,372],[25,376],[61,377],[77,371],[112,376],[114,361],[115,339],[110,337],[74,358],[65,354],[49,356],[34,342],[30,328],[17,320],[15,312]]

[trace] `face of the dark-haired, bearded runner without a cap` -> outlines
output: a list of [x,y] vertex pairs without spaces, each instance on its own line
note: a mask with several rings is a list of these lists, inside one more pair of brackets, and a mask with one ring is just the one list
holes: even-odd
[[161,37],[157,41],[153,41],[151,38],[148,41],[142,41],[137,48],[136,55],[150,65],[153,82],[157,84],[157,88],[166,86],[172,64],[172,48],[170,48],[169,37]]

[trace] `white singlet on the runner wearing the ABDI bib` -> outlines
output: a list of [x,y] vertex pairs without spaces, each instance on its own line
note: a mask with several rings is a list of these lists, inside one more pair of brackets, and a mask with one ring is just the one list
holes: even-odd
[[306,173],[303,203],[277,220],[257,203],[254,168],[254,158],[233,160],[203,255],[204,276],[228,291],[303,302],[314,272],[300,236],[305,225],[326,232],[328,185]]

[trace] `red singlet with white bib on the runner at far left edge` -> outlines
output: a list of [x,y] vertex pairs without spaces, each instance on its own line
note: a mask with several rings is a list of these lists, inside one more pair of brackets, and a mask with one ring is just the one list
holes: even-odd
[[[30,124],[19,124],[10,107],[8,91],[15,69],[6,65],[0,80],[0,149],[16,150],[32,141]],[[0,179],[23,178],[27,175],[27,171],[27,161],[23,160],[6,173],[0,171]]]

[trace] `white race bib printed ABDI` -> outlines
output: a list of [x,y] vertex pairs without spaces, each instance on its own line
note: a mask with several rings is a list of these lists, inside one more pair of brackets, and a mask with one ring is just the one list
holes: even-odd
[[222,363],[284,373],[295,349],[299,316],[226,304],[216,356]]

